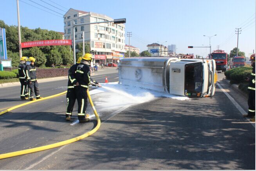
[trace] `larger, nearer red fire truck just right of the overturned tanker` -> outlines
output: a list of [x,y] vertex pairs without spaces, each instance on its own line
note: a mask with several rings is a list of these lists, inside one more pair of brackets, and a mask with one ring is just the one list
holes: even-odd
[[227,53],[224,50],[214,50],[210,55],[210,59],[215,60],[217,71],[227,71]]

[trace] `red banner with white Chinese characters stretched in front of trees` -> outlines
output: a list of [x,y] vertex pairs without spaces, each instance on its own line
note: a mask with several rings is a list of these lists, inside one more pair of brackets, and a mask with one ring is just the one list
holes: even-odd
[[29,48],[34,46],[58,46],[58,45],[72,45],[72,40],[38,40],[28,41],[22,43],[22,48]]

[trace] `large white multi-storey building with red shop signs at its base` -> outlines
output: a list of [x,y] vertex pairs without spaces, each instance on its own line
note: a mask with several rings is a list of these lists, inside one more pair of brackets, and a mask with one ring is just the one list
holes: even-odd
[[[79,11],[70,8],[63,16],[65,39],[73,40],[73,22],[93,23],[101,21],[113,21],[104,14],[94,12]],[[117,62],[124,58],[125,46],[125,26],[124,24],[100,23],[91,25],[81,25],[75,27],[76,44],[83,43],[83,32],[85,43],[90,45],[90,50],[94,50],[95,62]],[[76,50],[77,51],[77,50]]]

